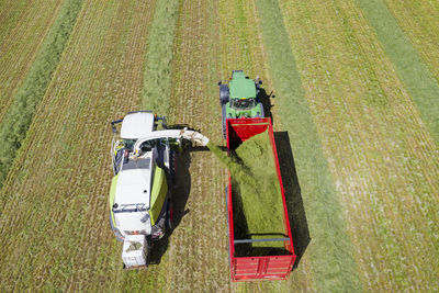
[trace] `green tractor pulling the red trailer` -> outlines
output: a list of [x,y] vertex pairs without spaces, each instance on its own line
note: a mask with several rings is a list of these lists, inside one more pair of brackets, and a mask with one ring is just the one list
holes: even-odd
[[228,84],[218,82],[219,104],[223,113],[223,136],[226,137],[227,119],[263,117],[259,78],[249,79],[243,70],[233,70]]

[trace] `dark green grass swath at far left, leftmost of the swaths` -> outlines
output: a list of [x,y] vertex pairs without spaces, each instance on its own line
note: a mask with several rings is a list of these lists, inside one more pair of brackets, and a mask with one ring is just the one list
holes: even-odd
[[14,101],[0,126],[0,187],[2,185],[15,151],[26,136],[34,112],[52,80],[82,0],[63,3],[59,15],[48,32],[26,79],[14,95]]

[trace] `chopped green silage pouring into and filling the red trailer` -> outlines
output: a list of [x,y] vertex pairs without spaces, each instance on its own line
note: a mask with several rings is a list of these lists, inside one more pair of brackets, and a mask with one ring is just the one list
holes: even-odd
[[[286,237],[282,193],[268,131],[244,142],[229,157],[211,143],[207,147],[232,173],[235,239]],[[275,253],[283,246],[283,241],[239,244],[236,251],[255,255],[251,248],[257,248],[257,253]]]

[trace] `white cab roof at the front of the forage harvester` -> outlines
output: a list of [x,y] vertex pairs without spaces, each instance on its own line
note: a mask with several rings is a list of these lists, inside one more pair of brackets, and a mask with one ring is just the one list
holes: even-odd
[[154,114],[138,112],[127,114],[121,127],[121,137],[125,139],[137,139],[147,136],[154,131]]

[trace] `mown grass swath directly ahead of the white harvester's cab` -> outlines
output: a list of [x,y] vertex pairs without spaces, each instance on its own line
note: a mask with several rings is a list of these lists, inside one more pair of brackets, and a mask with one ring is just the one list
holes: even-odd
[[171,94],[171,61],[179,15],[179,0],[158,0],[148,36],[142,108],[159,115],[168,111]]

